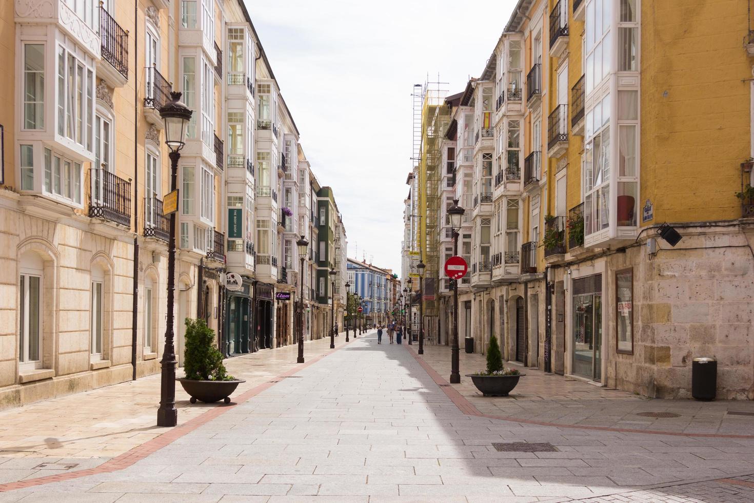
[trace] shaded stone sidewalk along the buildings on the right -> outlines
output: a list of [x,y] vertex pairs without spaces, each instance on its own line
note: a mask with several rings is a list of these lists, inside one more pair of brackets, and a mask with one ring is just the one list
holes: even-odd
[[[449,346],[427,345],[423,359],[440,376],[449,378]],[[670,433],[754,435],[754,401],[651,399],[627,391],[602,388],[568,376],[528,369],[518,363],[509,362],[506,366],[520,369],[526,373],[526,377],[520,380],[510,397],[483,397],[464,374],[486,368],[486,357],[483,354],[464,353],[461,348],[461,384],[453,385],[453,388],[480,412],[511,419]],[[752,415],[728,414],[728,411]],[[674,413],[678,417],[637,415],[658,412]]]

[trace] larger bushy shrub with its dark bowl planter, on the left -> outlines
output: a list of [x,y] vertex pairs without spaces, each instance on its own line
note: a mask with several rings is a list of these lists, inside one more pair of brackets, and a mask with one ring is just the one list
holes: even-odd
[[225,400],[244,380],[228,376],[222,364],[222,353],[215,346],[215,333],[204,320],[186,318],[183,370],[186,376],[178,379],[183,389],[191,395],[191,403],[201,400],[214,403]]

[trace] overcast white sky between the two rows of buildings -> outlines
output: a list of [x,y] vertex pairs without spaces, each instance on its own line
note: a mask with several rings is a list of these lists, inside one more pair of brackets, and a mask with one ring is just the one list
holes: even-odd
[[482,72],[515,0],[245,0],[348,256],[400,275],[413,84]]

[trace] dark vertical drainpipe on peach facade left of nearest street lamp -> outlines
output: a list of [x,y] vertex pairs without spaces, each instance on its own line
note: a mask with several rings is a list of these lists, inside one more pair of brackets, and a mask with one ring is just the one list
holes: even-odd
[[[139,62],[139,2],[133,2],[133,60]],[[136,68],[138,68],[136,64]],[[131,380],[136,381],[136,339],[139,324],[139,85],[133,72],[133,292],[131,293]]]

